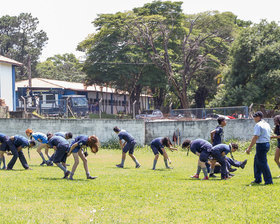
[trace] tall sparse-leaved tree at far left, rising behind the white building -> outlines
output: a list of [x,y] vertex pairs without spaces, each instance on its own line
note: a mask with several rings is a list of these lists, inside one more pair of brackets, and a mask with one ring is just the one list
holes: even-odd
[[26,78],[29,58],[31,71],[35,74],[39,56],[48,40],[47,34],[38,30],[38,24],[39,20],[30,13],[0,18],[0,54],[25,65],[17,74],[18,79]]

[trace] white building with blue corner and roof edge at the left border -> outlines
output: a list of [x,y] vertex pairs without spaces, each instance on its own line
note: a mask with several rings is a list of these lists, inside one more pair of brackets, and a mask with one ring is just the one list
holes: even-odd
[[0,99],[10,111],[16,110],[15,67],[22,63],[0,55]]

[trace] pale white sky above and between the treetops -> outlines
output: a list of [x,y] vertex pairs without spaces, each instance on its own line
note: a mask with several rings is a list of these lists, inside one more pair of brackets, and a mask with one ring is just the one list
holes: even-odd
[[[280,21],[279,0],[181,0],[184,13],[208,10],[230,11],[239,19],[258,23],[261,19]],[[39,20],[39,29],[49,38],[40,61],[55,54],[83,53],[76,51],[79,42],[94,33],[92,21],[98,14],[116,13],[141,7],[152,0],[0,0],[0,16],[31,13]]]

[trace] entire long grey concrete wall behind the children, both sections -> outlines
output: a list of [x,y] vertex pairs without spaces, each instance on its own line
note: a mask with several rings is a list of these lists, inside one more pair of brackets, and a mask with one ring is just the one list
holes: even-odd
[[[273,128],[273,119],[267,119]],[[253,135],[255,122],[254,120],[228,120],[224,128],[225,140],[241,139],[250,140]],[[143,120],[67,120],[67,119],[0,119],[0,132],[9,136],[20,134],[25,136],[25,130],[31,128],[34,131],[58,132],[71,131],[75,136],[80,134],[92,135],[99,137],[101,142],[107,142],[116,138],[113,127],[118,126],[121,129],[131,133],[137,143],[149,144],[156,137],[169,136],[172,138],[173,132],[179,128],[181,132],[180,142],[185,138],[191,140],[196,138],[210,139],[210,131],[217,126],[216,120],[204,121],[161,121],[147,122]]]

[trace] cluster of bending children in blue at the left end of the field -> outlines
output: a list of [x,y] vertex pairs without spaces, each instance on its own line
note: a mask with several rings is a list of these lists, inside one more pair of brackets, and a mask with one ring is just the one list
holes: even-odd
[[[79,158],[81,158],[86,171],[87,179],[96,178],[90,175],[86,158],[87,148],[90,148],[91,152],[93,153],[98,152],[99,139],[95,135],[80,135],[77,136],[71,143],[69,143],[67,140],[72,138],[71,132],[44,134],[41,132],[33,132],[31,129],[27,129],[25,133],[27,137],[30,138],[30,140],[21,135],[8,137],[7,135],[0,133],[0,166],[3,162],[2,169],[12,170],[18,158],[25,169],[30,169],[22,149],[25,147],[28,147],[28,149],[34,147],[36,145],[35,141],[37,141],[39,144],[37,147],[37,152],[43,160],[40,165],[46,164],[48,166],[53,166],[53,163],[55,163],[64,172],[64,179],[73,180],[74,173],[79,164]],[[50,148],[54,149],[52,156],[49,155]],[[45,154],[48,157],[48,160],[45,159],[42,149],[45,149]],[[5,152],[13,156],[7,166],[4,156]],[[74,157],[74,164],[71,171],[67,170],[66,164],[66,159],[70,154],[72,154]]]

